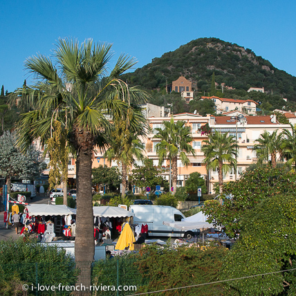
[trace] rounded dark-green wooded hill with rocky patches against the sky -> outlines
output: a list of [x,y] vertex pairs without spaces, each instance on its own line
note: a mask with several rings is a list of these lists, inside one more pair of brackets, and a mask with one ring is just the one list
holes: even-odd
[[161,89],[183,75],[192,80],[197,91],[209,91],[213,72],[219,85],[225,83],[245,91],[250,87],[264,87],[268,93],[296,100],[296,77],[275,68],[249,48],[217,38],[192,40],[127,73],[125,78],[130,84],[145,89]]

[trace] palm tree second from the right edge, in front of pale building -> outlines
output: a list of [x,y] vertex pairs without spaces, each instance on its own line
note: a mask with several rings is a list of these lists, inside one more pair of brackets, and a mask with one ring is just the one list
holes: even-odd
[[254,145],[253,150],[256,151],[258,163],[268,162],[270,156],[272,167],[276,167],[277,153],[281,157],[282,133],[278,134],[278,129],[271,134],[264,131],[261,133],[261,138],[258,138],[256,142],[259,142],[259,144]]

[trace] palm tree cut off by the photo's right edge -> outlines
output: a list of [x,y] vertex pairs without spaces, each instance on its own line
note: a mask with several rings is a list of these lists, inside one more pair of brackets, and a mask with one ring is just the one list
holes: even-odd
[[295,172],[296,167],[296,126],[290,124],[292,133],[288,129],[284,129],[282,135],[283,140],[281,144],[281,150],[283,156],[287,159],[286,165],[291,167],[291,171]]

